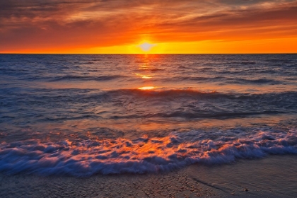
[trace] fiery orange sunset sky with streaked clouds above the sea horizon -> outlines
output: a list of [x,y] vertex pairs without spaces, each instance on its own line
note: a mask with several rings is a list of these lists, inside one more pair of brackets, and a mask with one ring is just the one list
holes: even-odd
[[297,0],[0,0],[0,53],[296,52]]

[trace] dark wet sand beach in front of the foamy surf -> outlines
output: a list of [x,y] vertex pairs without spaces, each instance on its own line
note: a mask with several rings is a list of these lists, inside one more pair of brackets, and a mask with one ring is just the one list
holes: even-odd
[[0,197],[296,197],[297,156],[225,165],[191,165],[172,173],[67,176],[0,175]]

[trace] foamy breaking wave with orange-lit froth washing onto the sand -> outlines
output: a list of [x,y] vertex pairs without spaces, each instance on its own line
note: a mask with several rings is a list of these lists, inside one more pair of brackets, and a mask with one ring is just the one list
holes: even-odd
[[297,154],[296,130],[172,132],[165,137],[86,139],[0,144],[0,171],[41,175],[159,173],[201,163],[231,163],[239,158]]

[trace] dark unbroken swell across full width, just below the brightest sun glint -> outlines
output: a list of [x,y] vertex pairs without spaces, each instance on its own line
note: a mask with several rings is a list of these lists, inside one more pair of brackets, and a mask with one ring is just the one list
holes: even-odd
[[[3,93],[0,96],[4,112],[0,116],[2,123],[147,118],[201,120],[297,113],[297,92],[223,93],[194,88],[111,91],[37,88],[27,93],[19,88],[0,88],[0,91]],[[58,112],[54,108],[58,108]]]

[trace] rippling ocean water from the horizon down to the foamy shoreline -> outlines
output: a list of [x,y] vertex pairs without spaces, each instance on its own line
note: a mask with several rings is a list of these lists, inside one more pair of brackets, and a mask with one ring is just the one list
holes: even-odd
[[297,154],[297,54],[0,54],[0,172]]

